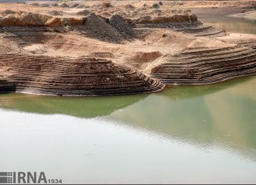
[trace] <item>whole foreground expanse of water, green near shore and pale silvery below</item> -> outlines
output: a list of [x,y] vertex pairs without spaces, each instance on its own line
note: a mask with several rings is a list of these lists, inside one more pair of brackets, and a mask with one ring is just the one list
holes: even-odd
[[63,183],[256,183],[256,77],[148,95],[0,95],[1,171]]

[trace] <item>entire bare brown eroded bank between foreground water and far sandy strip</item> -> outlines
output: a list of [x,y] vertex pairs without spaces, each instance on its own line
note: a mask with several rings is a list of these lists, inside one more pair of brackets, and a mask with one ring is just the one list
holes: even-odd
[[256,73],[254,35],[145,2],[1,4],[0,93],[125,95]]

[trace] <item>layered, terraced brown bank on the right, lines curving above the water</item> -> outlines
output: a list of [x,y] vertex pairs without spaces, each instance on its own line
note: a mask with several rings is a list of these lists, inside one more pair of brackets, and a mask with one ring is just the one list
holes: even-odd
[[169,85],[203,85],[256,74],[255,50],[241,46],[188,50],[163,60],[151,77]]

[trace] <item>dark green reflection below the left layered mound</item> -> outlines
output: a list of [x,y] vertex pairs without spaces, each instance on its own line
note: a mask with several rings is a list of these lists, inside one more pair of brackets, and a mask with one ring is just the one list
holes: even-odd
[[116,97],[51,97],[25,94],[0,94],[0,107],[39,114],[100,117],[143,100],[147,95]]

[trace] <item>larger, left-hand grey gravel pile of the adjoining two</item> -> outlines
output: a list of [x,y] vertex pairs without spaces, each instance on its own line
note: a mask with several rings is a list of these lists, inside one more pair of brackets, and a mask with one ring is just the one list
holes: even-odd
[[121,33],[96,14],[90,14],[83,24],[93,37],[102,41],[121,43],[124,40]]

